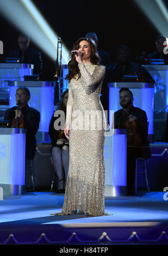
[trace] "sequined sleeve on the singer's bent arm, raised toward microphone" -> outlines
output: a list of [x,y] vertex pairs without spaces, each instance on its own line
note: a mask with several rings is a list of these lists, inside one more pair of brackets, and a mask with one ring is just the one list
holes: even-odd
[[78,68],[81,72],[83,89],[85,89],[87,94],[94,92],[100,86],[101,81],[104,78],[104,66],[96,66],[93,74],[87,70],[82,61],[78,64]]

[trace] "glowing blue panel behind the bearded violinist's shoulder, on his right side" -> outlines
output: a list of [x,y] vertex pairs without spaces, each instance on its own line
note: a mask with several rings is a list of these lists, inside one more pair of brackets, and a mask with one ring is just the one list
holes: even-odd
[[153,107],[154,107],[154,91],[153,88],[141,89],[141,109],[146,111],[149,126],[148,134],[153,134]]

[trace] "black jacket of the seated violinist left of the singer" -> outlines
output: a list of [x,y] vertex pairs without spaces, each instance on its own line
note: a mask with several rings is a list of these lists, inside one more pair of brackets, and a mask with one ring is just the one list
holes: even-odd
[[[9,121],[9,127],[12,127],[12,120],[15,118],[15,111],[17,107],[11,107],[4,115],[4,120]],[[34,159],[36,151],[36,137],[35,134],[39,129],[40,113],[38,110],[29,107],[29,105],[21,109],[24,118],[24,128],[26,133],[26,159]]]

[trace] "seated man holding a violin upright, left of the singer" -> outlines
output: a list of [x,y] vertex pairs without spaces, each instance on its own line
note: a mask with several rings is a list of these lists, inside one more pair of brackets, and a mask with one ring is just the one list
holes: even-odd
[[9,121],[9,127],[26,128],[26,162],[25,162],[25,184],[30,188],[31,160],[34,159],[36,151],[35,134],[39,129],[40,113],[38,110],[29,107],[30,91],[26,87],[18,87],[16,91],[17,106],[8,109],[4,120]]

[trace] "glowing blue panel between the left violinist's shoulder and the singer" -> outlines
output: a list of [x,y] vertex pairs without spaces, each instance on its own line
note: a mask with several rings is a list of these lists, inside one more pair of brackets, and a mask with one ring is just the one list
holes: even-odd
[[48,132],[54,113],[54,87],[41,87],[40,132]]

